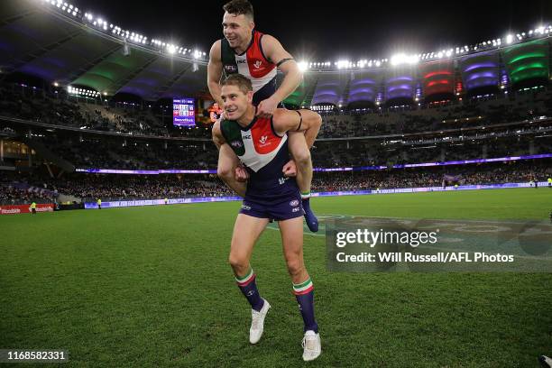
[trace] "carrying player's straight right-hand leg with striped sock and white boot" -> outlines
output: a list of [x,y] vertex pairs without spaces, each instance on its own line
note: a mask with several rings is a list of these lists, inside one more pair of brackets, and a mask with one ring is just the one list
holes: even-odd
[[293,293],[305,323],[303,360],[314,360],[322,353],[318,325],[314,315],[314,289],[303,261],[303,219],[300,217],[280,221],[284,258],[288,266]]

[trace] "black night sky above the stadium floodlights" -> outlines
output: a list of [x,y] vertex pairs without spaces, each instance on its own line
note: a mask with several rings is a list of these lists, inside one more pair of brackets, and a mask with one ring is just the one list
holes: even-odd
[[[552,21],[552,1],[399,1],[339,5],[251,0],[256,28],[280,39],[297,60],[389,58],[397,51],[420,53],[525,32]],[[222,37],[225,1],[152,2],[75,0],[131,32],[208,51]]]

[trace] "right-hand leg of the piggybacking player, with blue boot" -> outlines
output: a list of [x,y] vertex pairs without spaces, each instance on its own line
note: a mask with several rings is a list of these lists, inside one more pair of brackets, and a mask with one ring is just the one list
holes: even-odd
[[307,221],[308,229],[316,233],[318,231],[318,219],[312,212],[312,209],[310,209],[310,185],[312,183],[312,160],[310,159],[310,151],[308,150],[304,133],[289,132],[288,136],[290,154],[297,165],[297,185],[301,192],[301,199],[303,200],[305,220]]

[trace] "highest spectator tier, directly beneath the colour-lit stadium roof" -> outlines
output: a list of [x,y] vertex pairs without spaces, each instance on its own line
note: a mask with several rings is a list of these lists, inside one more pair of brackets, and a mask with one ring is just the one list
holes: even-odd
[[[162,104],[105,102],[70,96],[64,91],[52,93],[21,84],[0,84],[0,120],[20,131],[26,131],[26,125],[58,129],[63,126],[66,130],[82,133],[211,140],[210,125],[198,123],[196,128],[177,128],[172,125],[171,113],[170,106]],[[322,115],[318,140],[391,139],[392,135],[402,137],[403,134],[431,132],[458,134],[465,129],[500,124],[530,125],[532,121],[551,125],[552,91],[538,88],[510,95],[466,98],[444,105],[374,108]],[[10,119],[19,120],[10,122]]]

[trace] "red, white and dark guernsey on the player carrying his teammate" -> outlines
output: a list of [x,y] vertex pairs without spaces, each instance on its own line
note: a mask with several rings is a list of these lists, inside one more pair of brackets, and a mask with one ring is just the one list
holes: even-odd
[[220,130],[249,172],[248,195],[252,192],[281,195],[298,190],[295,179],[283,178],[281,171],[290,161],[288,133],[278,135],[271,118],[255,117],[245,127],[233,120],[223,120]]

